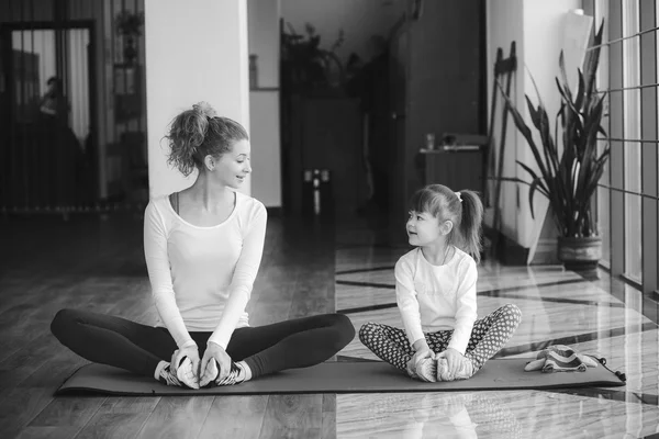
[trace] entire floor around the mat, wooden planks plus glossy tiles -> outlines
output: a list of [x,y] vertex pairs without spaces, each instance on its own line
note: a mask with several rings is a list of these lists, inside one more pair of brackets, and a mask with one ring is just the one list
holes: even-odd
[[[85,360],[59,346],[62,307],[154,323],[139,215],[0,219],[0,438],[644,438],[659,434],[657,303],[600,273],[480,268],[479,314],[523,312],[502,356],[566,344],[607,359],[627,385],[587,391],[53,397]],[[358,222],[271,218],[253,325],[339,311],[359,329],[400,326],[392,248]],[[372,359],[356,339],[339,359]]]

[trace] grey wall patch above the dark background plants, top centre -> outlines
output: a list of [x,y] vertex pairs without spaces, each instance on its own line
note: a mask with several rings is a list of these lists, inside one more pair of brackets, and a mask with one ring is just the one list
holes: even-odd
[[330,48],[343,29],[345,42],[336,50],[338,57],[345,63],[355,52],[366,61],[372,56],[370,37],[388,37],[406,3],[407,0],[281,0],[281,16],[298,34],[305,35],[305,23],[311,23],[321,35],[322,48]]

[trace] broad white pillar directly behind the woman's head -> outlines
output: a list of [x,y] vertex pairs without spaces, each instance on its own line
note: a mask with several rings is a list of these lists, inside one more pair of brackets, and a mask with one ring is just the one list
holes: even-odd
[[[200,13],[191,13],[200,11]],[[148,177],[152,196],[189,187],[160,142],[182,110],[208,101],[249,131],[247,0],[145,0]],[[243,188],[250,193],[250,181]]]

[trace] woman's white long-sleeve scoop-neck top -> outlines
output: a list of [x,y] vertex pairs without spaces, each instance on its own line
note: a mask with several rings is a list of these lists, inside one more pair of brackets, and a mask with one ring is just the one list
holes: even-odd
[[212,227],[181,218],[169,196],[152,199],[144,217],[144,254],[155,305],[178,347],[189,331],[213,331],[224,349],[234,329],[249,326],[245,312],[258,272],[267,211],[235,192],[231,215]]

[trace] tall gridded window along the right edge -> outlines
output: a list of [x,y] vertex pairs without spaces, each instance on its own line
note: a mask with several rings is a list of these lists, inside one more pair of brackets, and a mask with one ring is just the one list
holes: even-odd
[[584,0],[583,8],[596,26],[604,19],[597,88],[608,91],[612,156],[595,203],[602,264],[647,294],[659,283],[659,8],[634,0]]

